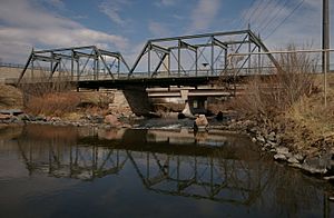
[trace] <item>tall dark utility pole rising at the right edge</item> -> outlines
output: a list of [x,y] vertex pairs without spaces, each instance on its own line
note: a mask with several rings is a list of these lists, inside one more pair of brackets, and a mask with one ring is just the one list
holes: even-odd
[[330,0],[323,0],[323,73],[324,73],[324,91],[325,106],[327,105],[327,72],[330,70]]

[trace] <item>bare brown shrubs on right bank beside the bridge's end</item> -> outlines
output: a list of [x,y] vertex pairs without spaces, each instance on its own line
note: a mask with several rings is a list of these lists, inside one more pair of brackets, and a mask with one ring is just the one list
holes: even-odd
[[[288,50],[295,50],[293,46]],[[257,77],[248,81],[244,95],[235,100],[235,108],[245,117],[274,119],[314,90],[316,61],[306,53],[281,54],[282,69],[271,76]]]

